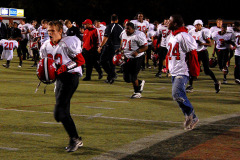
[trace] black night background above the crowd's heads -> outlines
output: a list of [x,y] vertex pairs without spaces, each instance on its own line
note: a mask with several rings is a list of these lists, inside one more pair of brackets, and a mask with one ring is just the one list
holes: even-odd
[[133,19],[137,12],[143,12],[150,22],[162,22],[172,14],[183,16],[185,24],[195,19],[222,18],[239,20],[240,5],[237,0],[5,0],[0,7],[24,9],[27,20],[45,18],[48,20],[70,19],[81,24],[85,19],[110,23],[110,16],[116,13],[120,23]]

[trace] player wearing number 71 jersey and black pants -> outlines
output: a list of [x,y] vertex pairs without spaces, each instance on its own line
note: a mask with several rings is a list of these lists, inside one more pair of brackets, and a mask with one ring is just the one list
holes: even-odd
[[129,22],[120,38],[121,48],[119,51],[123,51],[126,61],[123,65],[124,81],[133,84],[134,94],[131,98],[141,98],[145,81],[138,79],[138,73],[144,60],[144,52],[148,49],[146,35],[135,30],[134,24]]

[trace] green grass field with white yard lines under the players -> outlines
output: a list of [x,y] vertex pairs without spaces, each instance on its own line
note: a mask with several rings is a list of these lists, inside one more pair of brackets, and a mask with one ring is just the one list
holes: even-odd
[[[15,53],[16,54],[16,53]],[[18,68],[15,56],[10,68],[0,61],[0,159],[78,159],[86,160],[116,149],[140,138],[182,127],[184,117],[171,96],[171,78],[156,78],[156,69],[140,72],[146,81],[141,99],[130,99],[133,93],[119,74],[112,85],[97,79],[80,79],[79,87],[71,101],[71,113],[83,138],[84,146],[74,153],[66,153],[68,136],[63,126],[55,122],[54,85],[41,85],[33,61],[25,60]],[[213,81],[202,72],[194,82],[194,92],[188,98],[195,107],[199,119],[217,115],[240,113],[240,86],[233,77],[232,59],[228,84],[221,85],[216,94]],[[218,80],[223,75],[212,69]]]

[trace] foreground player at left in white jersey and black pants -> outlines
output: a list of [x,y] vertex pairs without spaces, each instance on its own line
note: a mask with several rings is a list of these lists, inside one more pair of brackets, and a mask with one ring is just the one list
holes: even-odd
[[49,22],[47,30],[50,40],[44,42],[40,52],[42,58],[54,59],[57,66],[54,117],[63,124],[69,135],[66,151],[74,152],[83,145],[70,115],[70,100],[82,75],[81,66],[85,63],[81,53],[81,41],[76,36],[62,38],[63,24],[59,21]]

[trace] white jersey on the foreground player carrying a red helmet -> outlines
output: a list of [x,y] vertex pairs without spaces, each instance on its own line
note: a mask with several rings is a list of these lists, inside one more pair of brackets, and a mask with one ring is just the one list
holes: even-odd
[[[82,53],[81,41],[76,36],[63,37],[56,45],[50,39],[45,41],[40,48],[41,58],[49,57],[54,59],[57,65],[64,65],[73,61],[77,54]],[[82,76],[81,66],[73,68],[69,73],[78,73]]]

